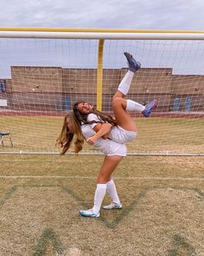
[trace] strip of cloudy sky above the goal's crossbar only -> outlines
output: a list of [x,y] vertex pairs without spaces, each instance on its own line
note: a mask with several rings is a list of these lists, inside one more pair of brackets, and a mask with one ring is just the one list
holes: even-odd
[[203,30],[203,0],[2,0],[1,27]]

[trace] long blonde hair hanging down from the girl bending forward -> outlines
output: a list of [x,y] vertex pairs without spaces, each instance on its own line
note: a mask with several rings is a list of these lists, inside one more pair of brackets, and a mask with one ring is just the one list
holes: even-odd
[[[67,128],[67,118],[69,118],[69,128]],[[84,137],[81,133],[80,123],[76,120],[73,111],[70,111],[64,117],[63,125],[61,128],[61,134],[56,140],[56,146],[62,148],[61,155],[65,154],[70,148],[73,137],[75,138],[74,141],[74,152],[79,153],[80,150],[83,148],[84,144]]]

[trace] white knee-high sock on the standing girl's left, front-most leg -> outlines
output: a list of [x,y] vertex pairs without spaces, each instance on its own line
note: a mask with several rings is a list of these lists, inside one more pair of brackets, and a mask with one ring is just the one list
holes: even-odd
[[94,195],[94,205],[92,207],[93,213],[99,213],[102,201],[104,200],[106,193],[106,184],[97,184],[95,195]]

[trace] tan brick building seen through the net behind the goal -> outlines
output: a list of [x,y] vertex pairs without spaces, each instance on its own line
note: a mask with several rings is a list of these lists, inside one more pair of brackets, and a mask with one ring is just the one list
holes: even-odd
[[[112,95],[127,69],[104,69],[103,110],[111,111]],[[11,79],[6,82],[8,108],[15,110],[61,111],[66,99],[84,100],[96,105],[97,70],[62,69],[58,67],[11,67]],[[186,98],[192,99],[193,111],[204,111],[204,75],[172,75],[172,69],[140,69],[134,75],[131,99],[146,103],[159,102],[157,111],[171,111],[176,97],[185,110]]]

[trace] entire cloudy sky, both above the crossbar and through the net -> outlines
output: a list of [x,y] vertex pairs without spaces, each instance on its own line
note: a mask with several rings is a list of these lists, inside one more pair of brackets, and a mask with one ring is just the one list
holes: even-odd
[[[1,0],[1,10],[2,28],[204,30],[203,0]],[[10,66],[15,65],[96,67],[98,41],[50,42],[1,39],[0,77],[9,77]],[[105,41],[104,67],[125,67],[123,51],[130,51],[143,62],[143,67],[169,67],[178,74],[204,74],[203,44],[204,41],[195,42],[192,48],[191,42],[149,45],[126,41],[122,45]]]

